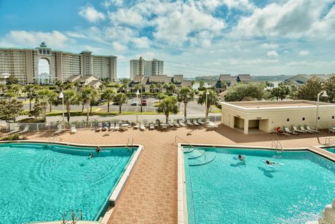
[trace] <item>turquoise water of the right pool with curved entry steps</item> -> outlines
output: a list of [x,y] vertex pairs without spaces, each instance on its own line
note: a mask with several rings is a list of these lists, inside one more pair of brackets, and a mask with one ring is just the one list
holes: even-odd
[[[184,153],[190,224],[302,224],[318,220],[334,198],[335,164],[309,151],[198,149],[214,160],[195,165],[203,156]],[[260,158],[285,165],[267,167]]]

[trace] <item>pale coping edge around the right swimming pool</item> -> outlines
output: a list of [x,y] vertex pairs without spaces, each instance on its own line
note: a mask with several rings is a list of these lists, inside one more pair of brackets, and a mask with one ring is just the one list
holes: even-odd
[[[248,146],[248,145],[228,145],[228,144],[191,144],[191,143],[178,143],[177,156],[177,224],[188,224],[188,207],[187,207],[187,193],[186,193],[186,180],[185,180],[185,167],[184,167],[184,151],[183,146],[196,146],[196,147],[226,147],[226,148],[248,148],[248,149],[267,149],[276,151],[276,149],[271,147],[258,147],[258,146]],[[315,146],[316,148],[322,149],[320,146]],[[311,153],[318,156],[322,156],[328,160],[332,160],[335,163],[335,158],[322,154],[320,151],[311,149],[311,147],[290,147],[283,148],[283,151],[311,151]]]

